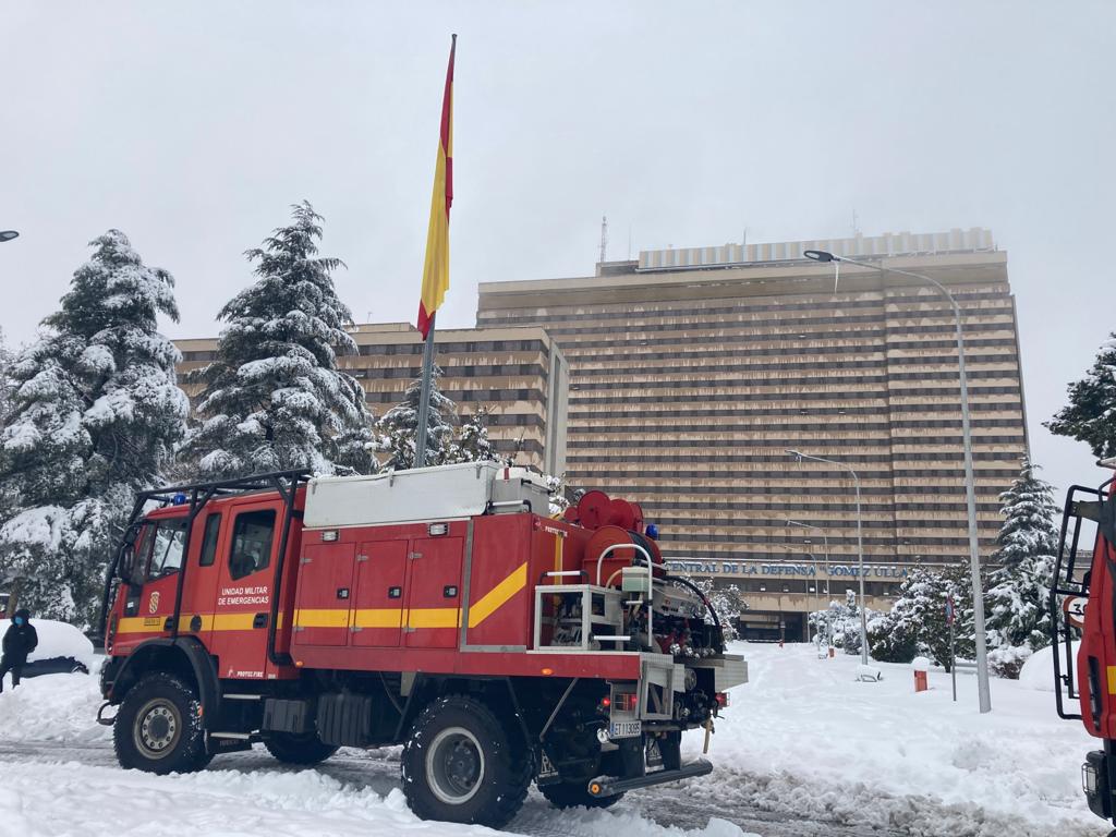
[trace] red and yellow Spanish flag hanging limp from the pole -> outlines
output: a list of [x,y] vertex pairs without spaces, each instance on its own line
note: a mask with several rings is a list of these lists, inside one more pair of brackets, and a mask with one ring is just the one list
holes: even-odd
[[434,196],[430,203],[430,230],[426,232],[426,263],[422,271],[422,297],[419,300],[419,330],[423,339],[434,325],[434,312],[450,289],[450,206],[453,204],[453,54],[458,36],[450,47],[450,68],[445,73],[442,97],[442,132],[434,165]]

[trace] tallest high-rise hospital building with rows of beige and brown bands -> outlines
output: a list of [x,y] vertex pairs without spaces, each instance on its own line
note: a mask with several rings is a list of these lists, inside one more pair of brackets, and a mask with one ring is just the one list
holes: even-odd
[[786,449],[858,471],[869,606],[912,567],[968,556],[949,304],[852,266],[835,288],[806,249],[955,295],[988,556],[1027,436],[1008,260],[987,230],[645,251],[590,277],[482,283],[477,316],[545,327],[569,358],[569,484],[639,500],[670,559],[738,584],[758,635],[793,638],[827,581],[833,598],[856,588],[856,506],[843,471]]

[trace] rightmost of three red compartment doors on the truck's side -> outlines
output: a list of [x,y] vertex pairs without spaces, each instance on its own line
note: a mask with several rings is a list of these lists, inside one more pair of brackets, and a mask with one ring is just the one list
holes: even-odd
[[406,647],[458,647],[462,546],[461,538],[450,537],[411,541]]

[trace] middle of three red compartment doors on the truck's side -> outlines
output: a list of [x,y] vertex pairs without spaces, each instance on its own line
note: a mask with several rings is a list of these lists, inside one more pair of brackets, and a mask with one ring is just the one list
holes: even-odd
[[403,629],[407,541],[362,543],[356,556],[353,645],[397,648]]

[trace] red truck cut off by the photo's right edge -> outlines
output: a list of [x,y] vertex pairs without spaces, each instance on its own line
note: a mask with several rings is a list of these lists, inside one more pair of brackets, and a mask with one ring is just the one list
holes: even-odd
[[[1103,464],[1108,464],[1105,461]],[[1086,731],[1101,740],[1103,749],[1087,753],[1081,783],[1089,808],[1098,817],[1116,812],[1116,503],[1113,480],[1099,489],[1074,485],[1066,497],[1050,610],[1052,620],[1055,694],[1058,714],[1080,720]],[[1086,564],[1078,550],[1089,541],[1093,555]],[[1088,606],[1086,607],[1086,605]],[[1079,642],[1077,653],[1074,643]],[[1078,702],[1078,711],[1067,708]]]

